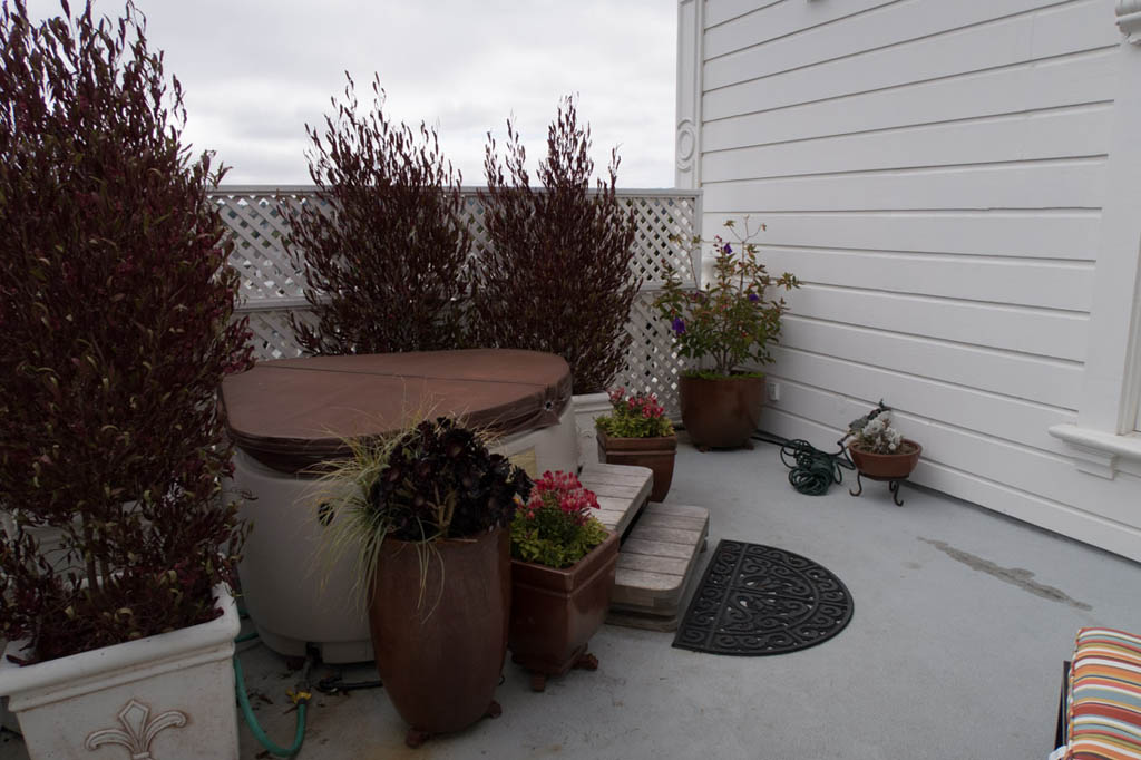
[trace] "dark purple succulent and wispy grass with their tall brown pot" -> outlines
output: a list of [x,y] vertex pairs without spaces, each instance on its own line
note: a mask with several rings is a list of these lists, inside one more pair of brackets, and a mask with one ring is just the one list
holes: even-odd
[[507,653],[510,537],[531,479],[477,432],[439,418],[329,464],[318,519],[326,559],[355,552],[377,670],[405,738],[497,715]]

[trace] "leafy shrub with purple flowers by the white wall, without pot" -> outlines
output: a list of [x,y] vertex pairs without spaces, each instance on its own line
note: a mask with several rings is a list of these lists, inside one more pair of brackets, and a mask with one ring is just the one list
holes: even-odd
[[[752,241],[764,225],[750,229],[745,217],[743,235],[731,219],[725,226],[735,240],[720,235],[713,238],[712,282],[699,290],[683,288],[679,273],[666,265],[663,292],[654,301],[662,318],[670,323],[678,353],[711,359],[710,371],[691,373],[701,377],[728,377],[741,373],[746,362],[771,362],[769,347],[777,342],[780,317],[788,307],[783,298],[768,298],[767,292],[770,288],[800,286],[787,272],[779,277],[770,275],[758,259]],[[695,244],[701,242],[694,238]]]

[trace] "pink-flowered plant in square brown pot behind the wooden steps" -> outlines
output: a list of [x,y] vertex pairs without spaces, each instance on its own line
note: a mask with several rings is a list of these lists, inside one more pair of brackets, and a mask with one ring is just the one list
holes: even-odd
[[609,464],[648,467],[654,472],[650,501],[665,501],[673,482],[678,436],[657,394],[610,391],[610,413],[594,420],[599,458]]

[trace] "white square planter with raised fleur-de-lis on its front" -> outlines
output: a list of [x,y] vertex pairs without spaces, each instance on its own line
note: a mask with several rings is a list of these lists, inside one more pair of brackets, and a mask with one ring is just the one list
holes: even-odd
[[0,663],[0,695],[32,760],[237,758],[233,597],[215,589],[220,617],[146,639],[19,666]]

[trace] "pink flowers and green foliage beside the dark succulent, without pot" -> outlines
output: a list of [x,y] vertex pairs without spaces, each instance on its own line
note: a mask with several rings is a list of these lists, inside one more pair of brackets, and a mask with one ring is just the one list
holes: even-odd
[[591,510],[598,498],[573,472],[543,472],[511,523],[511,556],[561,568],[574,565],[606,541],[606,528]]

